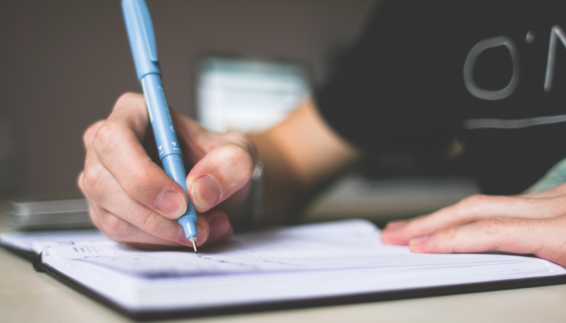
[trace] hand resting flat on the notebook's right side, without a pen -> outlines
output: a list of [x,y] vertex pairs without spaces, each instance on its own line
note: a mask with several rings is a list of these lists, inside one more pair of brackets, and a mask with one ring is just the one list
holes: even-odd
[[503,251],[566,265],[566,184],[541,193],[473,195],[430,215],[389,222],[381,240],[414,252]]

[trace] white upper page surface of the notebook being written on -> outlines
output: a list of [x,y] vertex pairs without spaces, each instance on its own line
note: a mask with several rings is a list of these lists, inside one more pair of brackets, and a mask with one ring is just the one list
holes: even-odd
[[258,273],[342,268],[397,269],[481,266],[497,263],[534,263],[525,256],[491,254],[415,254],[406,246],[380,241],[371,222],[345,220],[236,235],[212,249],[141,251],[113,242],[55,248],[65,259],[85,261],[139,277],[182,277],[211,274]]

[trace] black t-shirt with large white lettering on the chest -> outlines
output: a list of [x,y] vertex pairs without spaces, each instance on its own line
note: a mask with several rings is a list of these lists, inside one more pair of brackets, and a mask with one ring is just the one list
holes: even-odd
[[369,155],[424,168],[459,138],[485,193],[520,193],[566,157],[563,3],[382,0],[320,112]]

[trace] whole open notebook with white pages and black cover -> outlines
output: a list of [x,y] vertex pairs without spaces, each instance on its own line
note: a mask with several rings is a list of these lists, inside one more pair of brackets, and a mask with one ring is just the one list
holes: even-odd
[[0,243],[41,250],[46,271],[138,316],[566,282],[565,268],[535,257],[415,254],[405,246],[384,245],[379,230],[365,220],[239,234],[198,255],[141,251],[97,232],[3,233]]

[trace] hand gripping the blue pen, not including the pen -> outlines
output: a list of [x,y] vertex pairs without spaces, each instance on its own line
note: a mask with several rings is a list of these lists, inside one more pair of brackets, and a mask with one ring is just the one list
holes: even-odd
[[[218,206],[243,206],[257,152],[238,133],[212,133],[171,111],[183,151],[190,199],[198,211],[198,246],[225,241],[233,228]],[[86,158],[78,185],[93,224],[109,238],[138,246],[192,246],[178,224],[187,197],[158,161],[144,97],[127,93],[108,119],[84,133]],[[153,158],[153,159],[152,159]]]

